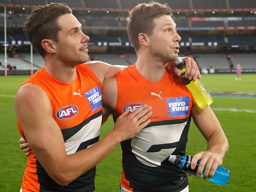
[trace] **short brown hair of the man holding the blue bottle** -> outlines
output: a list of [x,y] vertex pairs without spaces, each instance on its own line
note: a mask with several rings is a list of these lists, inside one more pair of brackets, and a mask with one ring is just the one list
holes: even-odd
[[171,8],[167,4],[160,4],[153,1],[148,4],[138,4],[133,10],[129,11],[127,34],[136,52],[140,46],[138,35],[140,33],[152,35],[153,29],[155,28],[155,22],[153,20],[162,15],[172,16]]

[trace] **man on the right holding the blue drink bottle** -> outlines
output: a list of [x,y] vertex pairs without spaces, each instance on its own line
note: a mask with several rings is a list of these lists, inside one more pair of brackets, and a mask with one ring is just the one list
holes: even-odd
[[188,192],[187,174],[168,157],[185,155],[191,117],[207,141],[207,151],[192,158],[192,169],[201,160],[198,177],[204,166],[204,179],[213,176],[222,164],[228,141],[211,108],[200,109],[173,69],[166,66],[178,58],[181,40],[170,7],[157,2],[138,4],[129,12],[127,32],[137,61],[105,80],[103,105],[114,120],[127,108],[133,112],[144,104],[153,106],[153,114],[149,125],[121,142],[120,191]]

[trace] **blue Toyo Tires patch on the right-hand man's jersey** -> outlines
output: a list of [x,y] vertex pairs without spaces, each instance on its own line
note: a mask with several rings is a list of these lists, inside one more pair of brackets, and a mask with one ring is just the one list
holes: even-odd
[[169,117],[187,116],[189,114],[189,97],[166,99]]

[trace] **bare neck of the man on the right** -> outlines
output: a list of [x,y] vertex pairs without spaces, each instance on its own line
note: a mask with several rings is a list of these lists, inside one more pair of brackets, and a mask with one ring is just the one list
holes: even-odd
[[150,54],[138,54],[136,68],[138,72],[151,82],[161,80],[166,72],[166,63],[150,56]]

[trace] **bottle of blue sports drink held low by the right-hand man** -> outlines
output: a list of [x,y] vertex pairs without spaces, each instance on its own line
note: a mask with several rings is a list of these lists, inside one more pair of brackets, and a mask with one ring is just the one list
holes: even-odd
[[[200,160],[196,163],[196,168],[194,170],[191,169],[191,161],[192,156],[185,155],[183,157],[179,155],[170,155],[169,161],[173,164],[179,166],[182,171],[188,173],[189,175],[196,176],[196,171],[198,169],[198,165]],[[205,167],[204,167],[205,170]],[[202,172],[201,178],[204,177],[204,170]],[[230,178],[230,171],[224,167],[218,166],[217,170],[215,171],[213,177],[211,179],[207,179],[213,183],[218,185],[226,185],[228,183],[228,179]]]

